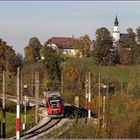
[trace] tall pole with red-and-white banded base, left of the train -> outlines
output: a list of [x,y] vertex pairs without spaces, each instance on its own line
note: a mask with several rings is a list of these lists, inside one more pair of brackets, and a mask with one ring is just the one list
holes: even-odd
[[20,139],[20,70],[17,68],[16,139]]

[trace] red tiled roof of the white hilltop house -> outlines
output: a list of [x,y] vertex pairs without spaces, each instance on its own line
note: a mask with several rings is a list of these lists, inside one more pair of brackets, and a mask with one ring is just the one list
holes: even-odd
[[78,40],[73,37],[52,37],[49,43],[56,44],[60,49],[75,49]]

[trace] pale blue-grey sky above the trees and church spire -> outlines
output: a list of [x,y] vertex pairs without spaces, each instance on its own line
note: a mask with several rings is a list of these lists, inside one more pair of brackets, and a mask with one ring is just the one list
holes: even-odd
[[21,54],[32,37],[42,45],[54,36],[94,40],[98,28],[112,34],[116,14],[121,33],[140,26],[139,1],[0,1],[0,38]]

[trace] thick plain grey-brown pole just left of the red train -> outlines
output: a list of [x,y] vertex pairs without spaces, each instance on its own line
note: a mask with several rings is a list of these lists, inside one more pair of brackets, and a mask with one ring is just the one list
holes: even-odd
[[35,124],[38,123],[38,109],[39,109],[39,72],[35,72]]

